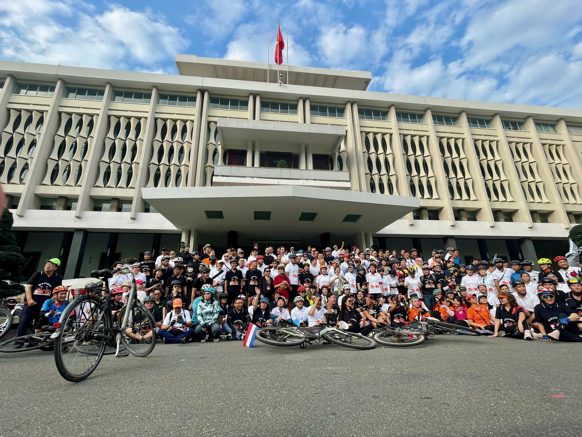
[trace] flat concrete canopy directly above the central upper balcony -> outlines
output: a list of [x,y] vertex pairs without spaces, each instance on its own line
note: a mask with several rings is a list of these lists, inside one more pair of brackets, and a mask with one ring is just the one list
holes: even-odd
[[315,153],[333,153],[346,136],[344,126],[315,125],[282,121],[219,118],[218,135],[227,149],[258,141],[264,145],[279,147],[310,145]]

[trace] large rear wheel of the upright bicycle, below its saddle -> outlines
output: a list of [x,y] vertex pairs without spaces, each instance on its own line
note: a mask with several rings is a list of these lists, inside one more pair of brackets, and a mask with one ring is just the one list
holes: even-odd
[[103,358],[111,327],[111,312],[95,296],[82,296],[65,308],[55,339],[55,364],[61,376],[79,382],[91,375]]

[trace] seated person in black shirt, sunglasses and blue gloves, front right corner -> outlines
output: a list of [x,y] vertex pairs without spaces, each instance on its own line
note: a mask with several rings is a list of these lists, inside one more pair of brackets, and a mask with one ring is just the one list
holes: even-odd
[[556,302],[555,291],[541,288],[540,304],[535,305],[535,322],[542,334],[542,341],[582,342],[578,320],[580,316],[566,304]]

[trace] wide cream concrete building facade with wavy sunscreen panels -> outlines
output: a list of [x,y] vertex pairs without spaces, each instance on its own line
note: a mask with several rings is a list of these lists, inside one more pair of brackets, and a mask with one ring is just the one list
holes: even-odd
[[27,269],[210,242],[537,259],[582,223],[582,111],[367,91],[371,73],[177,55],[179,75],[0,61]]

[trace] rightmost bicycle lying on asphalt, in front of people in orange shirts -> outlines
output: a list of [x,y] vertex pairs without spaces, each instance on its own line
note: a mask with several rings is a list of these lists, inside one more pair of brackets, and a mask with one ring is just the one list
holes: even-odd
[[480,336],[481,333],[452,323],[445,323],[439,320],[426,319],[421,322],[413,322],[410,325],[395,328],[384,327],[372,331],[372,339],[382,346],[388,347],[413,347],[423,344],[428,337],[433,337],[435,333],[455,333],[467,336]]

